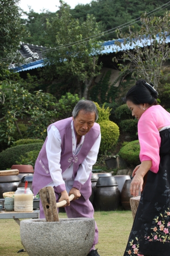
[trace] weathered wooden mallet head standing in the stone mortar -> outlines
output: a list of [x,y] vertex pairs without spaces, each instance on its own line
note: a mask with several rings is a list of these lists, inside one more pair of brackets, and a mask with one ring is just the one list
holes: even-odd
[[59,221],[59,215],[56,207],[56,197],[53,187],[42,188],[40,189],[39,194],[46,221]]

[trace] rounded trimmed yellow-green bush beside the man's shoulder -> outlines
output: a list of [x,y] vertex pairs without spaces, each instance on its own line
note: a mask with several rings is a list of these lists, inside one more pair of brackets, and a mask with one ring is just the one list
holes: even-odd
[[119,138],[119,127],[110,120],[104,120],[99,124],[102,135],[99,152],[100,154],[105,155],[106,152],[117,143]]

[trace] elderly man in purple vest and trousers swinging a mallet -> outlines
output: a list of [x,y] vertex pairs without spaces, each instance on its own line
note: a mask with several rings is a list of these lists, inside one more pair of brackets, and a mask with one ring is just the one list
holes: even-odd
[[[66,200],[68,218],[93,218],[93,206],[89,201],[92,192],[92,167],[97,160],[101,133],[98,111],[93,101],[79,101],[73,117],[63,119],[48,127],[48,136],[35,163],[34,194],[46,186],[52,186],[56,201]],[[69,202],[69,195],[75,198]],[[78,199],[78,200],[77,200]],[[45,218],[40,201],[40,218]],[[95,249],[98,229],[95,224],[93,247],[88,256],[99,256]]]

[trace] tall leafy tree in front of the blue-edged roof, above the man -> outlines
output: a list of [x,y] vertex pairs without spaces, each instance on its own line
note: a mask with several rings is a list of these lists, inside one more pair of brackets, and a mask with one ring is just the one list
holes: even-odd
[[[70,14],[70,7],[60,0],[59,12],[47,22],[51,51],[46,53],[46,73],[57,73],[59,78],[74,79],[79,97],[87,99],[93,77],[99,74],[98,56],[102,43],[92,36],[100,33],[93,16],[87,15],[82,24]],[[89,38],[88,40],[84,40]],[[77,42],[78,43],[74,43]],[[55,49],[53,49],[55,47]]]

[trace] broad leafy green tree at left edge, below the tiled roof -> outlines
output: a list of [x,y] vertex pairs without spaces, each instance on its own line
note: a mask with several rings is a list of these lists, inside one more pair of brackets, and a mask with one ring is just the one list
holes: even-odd
[[46,128],[58,117],[56,99],[42,91],[28,92],[19,83],[0,82],[0,141],[11,144],[18,120],[29,118],[28,137],[45,139]]

